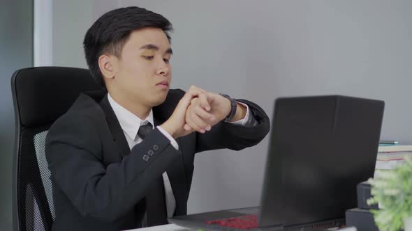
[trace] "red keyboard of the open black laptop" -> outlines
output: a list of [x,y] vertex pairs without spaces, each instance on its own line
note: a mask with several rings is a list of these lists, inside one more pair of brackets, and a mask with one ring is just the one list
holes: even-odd
[[258,215],[237,216],[212,221],[205,221],[207,225],[219,225],[241,230],[258,228]]

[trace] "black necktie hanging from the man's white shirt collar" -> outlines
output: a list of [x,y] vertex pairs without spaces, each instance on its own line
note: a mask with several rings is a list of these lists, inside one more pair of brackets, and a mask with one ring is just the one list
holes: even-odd
[[[152,124],[141,125],[138,136],[145,139],[145,136],[153,131]],[[165,203],[165,188],[163,177],[156,177],[147,190],[146,199],[146,217],[142,222],[143,226],[165,225],[168,224],[168,215]]]

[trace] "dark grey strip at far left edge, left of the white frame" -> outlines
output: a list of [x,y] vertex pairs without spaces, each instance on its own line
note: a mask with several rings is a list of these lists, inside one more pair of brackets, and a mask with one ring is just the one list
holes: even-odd
[[33,0],[0,2],[0,230],[11,230],[15,120],[10,78],[18,68],[33,66]]

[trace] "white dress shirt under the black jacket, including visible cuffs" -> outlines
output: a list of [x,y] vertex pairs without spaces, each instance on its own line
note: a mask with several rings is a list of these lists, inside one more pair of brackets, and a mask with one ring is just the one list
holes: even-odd
[[[143,141],[142,138],[138,136],[140,125],[146,125],[147,122],[150,122],[150,124],[152,124],[152,127],[154,128],[153,110],[150,110],[149,116],[147,116],[145,120],[142,120],[138,118],[138,116],[135,116],[135,114],[125,109],[122,105],[115,102],[115,100],[112,99],[110,94],[108,94],[108,100],[109,100],[110,106],[112,106],[112,109],[115,112],[117,120],[119,120],[120,127],[122,127],[124,136],[126,137],[126,141],[128,143],[128,148],[132,149],[134,145],[137,145],[138,143]],[[249,106],[247,106],[247,104],[242,104],[242,105],[246,106],[247,108],[246,116],[242,120],[231,122],[235,125],[245,125],[246,122],[249,121],[249,117],[250,117]],[[179,145],[177,144],[175,139],[161,127],[157,126],[157,128],[164,136],[166,136],[170,140],[170,144],[176,150],[179,150]],[[163,184],[165,186],[166,210],[168,213],[168,217],[172,217],[176,209],[176,200],[175,200],[175,196],[173,195],[172,186],[170,185],[168,173],[164,172],[162,174],[162,177],[163,177]]]

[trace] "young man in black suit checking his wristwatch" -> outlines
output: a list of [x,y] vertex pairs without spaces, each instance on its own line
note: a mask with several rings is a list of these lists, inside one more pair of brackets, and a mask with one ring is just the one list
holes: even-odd
[[252,102],[169,90],[172,25],[137,7],[101,16],[84,53],[102,92],[83,93],[47,134],[53,230],[127,230],[186,214],[196,152],[242,150],[270,122]]

